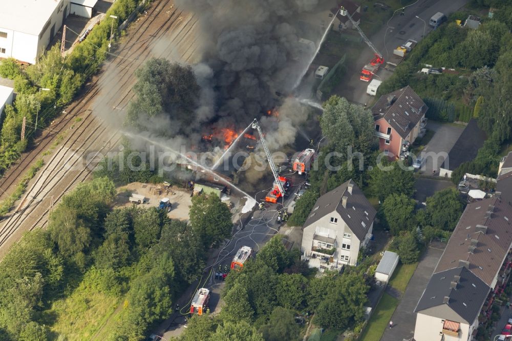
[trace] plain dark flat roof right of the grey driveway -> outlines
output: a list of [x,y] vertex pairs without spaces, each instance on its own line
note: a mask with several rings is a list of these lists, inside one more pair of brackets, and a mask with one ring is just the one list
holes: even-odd
[[487,135],[478,127],[477,121],[471,119],[448,153],[448,158],[444,160],[441,168],[453,171],[461,163],[473,160],[486,139]]

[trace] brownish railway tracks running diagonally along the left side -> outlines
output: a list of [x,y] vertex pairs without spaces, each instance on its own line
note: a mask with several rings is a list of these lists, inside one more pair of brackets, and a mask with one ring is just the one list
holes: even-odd
[[[93,113],[95,109],[101,108],[101,105],[104,105],[105,108],[112,108],[115,103],[122,105],[122,108],[127,105],[133,97],[131,91],[132,84],[135,82],[133,72],[152,54],[150,47],[158,39],[161,39],[166,32],[172,30],[170,32],[171,36],[166,39],[168,46],[159,53],[159,56],[170,54],[170,51],[177,49],[182,44],[185,37],[190,36],[197,20],[194,19],[193,15],[184,15],[174,6],[170,6],[170,3],[171,0],[164,0],[148,10],[148,14],[141,19],[138,28],[134,28],[136,32],[130,38],[133,44],[120,50],[116,58],[104,68],[102,74],[95,77],[89,84],[86,93],[68,106],[67,114],[62,115],[58,122],[52,124],[42,133],[36,148],[0,179],[0,191],[5,191],[8,185],[15,181],[17,176],[23,174],[32,161],[38,157],[39,153],[52,142],[54,136],[64,131],[76,116],[83,116],[78,127],[72,134],[69,134],[66,141],[61,144],[61,147],[39,173],[37,181],[27,191],[16,210],[0,227],[0,249],[8,247],[8,241],[15,235],[20,226],[30,226],[29,230],[44,227],[50,215],[50,202],[53,202],[53,205],[60,203],[63,196],[91,175],[94,167],[119,142],[121,135],[118,132],[107,131],[106,125],[102,124],[104,122],[95,118]],[[154,19],[158,15],[162,15],[162,11],[168,6],[170,6],[170,11],[166,12],[169,14],[168,19],[162,23],[151,25]],[[186,20],[183,20],[184,17]],[[181,35],[184,36],[180,39]],[[189,40],[191,39],[187,38],[185,42]],[[196,50],[196,45],[196,39],[191,41],[189,46],[186,47],[186,56],[183,54],[182,59],[190,59]],[[116,77],[109,78],[109,73],[115,73]],[[104,96],[103,101],[96,103],[94,101],[95,97],[101,96],[102,89],[106,90],[108,96]],[[129,90],[124,91],[126,89]],[[95,144],[98,144],[97,141],[102,136],[109,133],[106,142],[95,152],[87,164],[81,164],[83,156]],[[74,167],[79,168],[79,171],[73,169]]]

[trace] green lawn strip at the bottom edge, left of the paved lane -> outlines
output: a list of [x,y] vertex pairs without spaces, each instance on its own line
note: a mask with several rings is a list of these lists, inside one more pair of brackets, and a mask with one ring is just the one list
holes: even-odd
[[388,327],[389,320],[397,306],[398,300],[389,294],[384,293],[379,304],[375,307],[375,310],[370,317],[370,321],[368,321],[368,324],[362,332],[359,340],[379,341],[384,330]]

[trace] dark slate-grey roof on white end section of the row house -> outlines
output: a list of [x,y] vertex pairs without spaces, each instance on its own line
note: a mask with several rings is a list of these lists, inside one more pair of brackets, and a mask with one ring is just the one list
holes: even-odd
[[[455,286],[452,282],[457,281],[459,283]],[[467,323],[472,324],[480,313],[489,290],[484,282],[465,267],[434,273],[414,311],[447,304]],[[445,297],[449,297],[447,303]],[[436,317],[446,318],[439,315]]]

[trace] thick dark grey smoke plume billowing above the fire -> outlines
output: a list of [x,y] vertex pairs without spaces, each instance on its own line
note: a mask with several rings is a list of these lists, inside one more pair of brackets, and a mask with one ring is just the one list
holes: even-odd
[[[209,80],[203,105],[220,125],[246,126],[279,104],[275,92],[287,94],[314,51],[299,41],[320,32],[304,32],[297,15],[317,9],[319,0],[177,0],[199,17],[204,66],[198,79]],[[316,39],[312,39],[316,40]],[[211,74],[206,74],[206,66]],[[205,89],[204,82],[201,84]],[[282,110],[281,110],[282,111]],[[290,123],[290,122],[288,122]],[[282,121],[278,129],[288,132]]]

